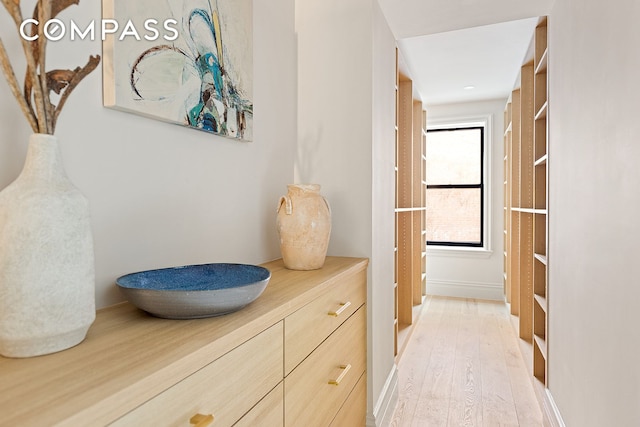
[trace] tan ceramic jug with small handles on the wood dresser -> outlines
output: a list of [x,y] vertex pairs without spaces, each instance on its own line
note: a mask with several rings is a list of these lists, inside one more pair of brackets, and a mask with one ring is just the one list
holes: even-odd
[[331,234],[331,208],[317,184],[291,184],[278,204],[277,228],[284,266],[322,268]]

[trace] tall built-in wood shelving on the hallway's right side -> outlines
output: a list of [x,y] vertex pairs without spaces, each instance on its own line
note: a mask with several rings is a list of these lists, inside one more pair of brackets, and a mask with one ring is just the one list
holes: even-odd
[[505,295],[530,343],[533,376],[546,386],[548,360],[547,18],[533,36],[533,59],[505,107]]

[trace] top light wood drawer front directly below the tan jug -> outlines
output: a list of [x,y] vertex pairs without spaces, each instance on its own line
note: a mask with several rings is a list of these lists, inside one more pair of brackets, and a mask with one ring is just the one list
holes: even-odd
[[336,283],[324,295],[287,316],[284,321],[285,374],[365,303],[366,275],[363,270]]

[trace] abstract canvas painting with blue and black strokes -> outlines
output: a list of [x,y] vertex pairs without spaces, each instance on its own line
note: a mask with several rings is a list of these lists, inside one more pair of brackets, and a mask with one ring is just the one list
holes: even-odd
[[104,105],[253,139],[252,0],[105,0]]

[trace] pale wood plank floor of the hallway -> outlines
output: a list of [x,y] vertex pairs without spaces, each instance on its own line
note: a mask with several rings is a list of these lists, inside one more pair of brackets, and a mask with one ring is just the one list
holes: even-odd
[[430,297],[399,361],[391,426],[542,426],[505,304]]

